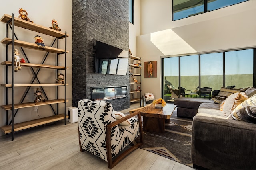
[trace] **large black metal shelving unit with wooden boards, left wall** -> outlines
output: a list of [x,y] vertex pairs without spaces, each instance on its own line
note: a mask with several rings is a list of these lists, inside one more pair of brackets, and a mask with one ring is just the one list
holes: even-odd
[[[39,126],[39,125],[43,125],[46,123],[50,123],[50,122],[54,122],[54,121],[58,121],[58,120],[62,120],[64,119],[65,121],[65,125],[66,125],[66,119],[68,117],[68,115],[66,115],[66,102],[68,102],[68,100],[66,99],[66,86],[68,84],[56,84],[56,83],[52,83],[52,84],[42,84],[40,83],[37,75],[40,72],[40,69],[42,68],[47,68],[47,69],[55,69],[56,70],[56,75],[58,76],[58,72],[59,70],[64,70],[64,79],[66,80],[66,69],[68,69],[66,67],[66,55],[68,53],[67,49],[66,49],[66,38],[69,36],[66,32],[62,33],[59,31],[56,31],[54,29],[50,29],[50,28],[46,28],[43,27],[41,25],[36,25],[34,23],[22,20],[20,18],[16,18],[14,17],[14,14],[12,14],[12,16],[8,15],[8,14],[4,14],[4,16],[1,18],[0,20],[1,22],[6,23],[6,37],[4,39],[2,39],[1,43],[2,44],[6,44],[6,61],[3,61],[1,63],[1,65],[5,65],[6,66],[6,84],[1,84],[2,87],[6,88],[6,105],[2,105],[1,108],[4,109],[6,111],[6,125],[0,127],[0,129],[2,129],[2,131],[4,131],[5,134],[7,133],[11,133],[12,134],[12,140],[14,140],[14,132],[15,131],[20,131],[23,129],[28,129],[31,127],[35,127],[35,126]],[[12,31],[12,37],[9,38],[8,37],[8,30],[9,27]],[[51,47],[46,47],[45,50],[39,49],[38,46],[34,43],[28,43],[25,41],[20,41],[18,40],[17,36],[14,33],[14,28],[15,27],[21,27],[24,29],[28,29],[31,31],[36,31],[38,33],[42,33],[45,35],[50,35],[52,37],[55,37],[52,46]],[[58,49],[58,43],[59,43],[59,39],[65,39],[65,49]],[[54,43],[57,43],[57,48],[53,48]],[[9,59],[9,55],[8,55],[8,46],[11,45],[12,46],[12,61],[8,61]],[[22,49],[22,52],[24,53],[24,56],[26,57],[26,60],[28,61],[28,63],[21,63],[21,66],[24,67],[29,67],[32,71],[32,74],[34,74],[34,78],[32,79],[31,83],[29,84],[16,84],[15,82],[15,77],[14,77],[14,46],[18,46]],[[40,50],[40,51],[44,51],[46,52],[46,55],[44,57],[44,60],[42,61],[41,64],[33,64],[30,63],[28,60],[27,55],[25,54],[23,48],[28,48],[28,49],[34,49],[34,50]],[[46,60],[48,53],[55,53],[56,57],[57,57],[57,64],[56,65],[44,65],[44,61]],[[65,66],[58,66],[58,56],[64,54],[65,55]],[[8,71],[8,67],[12,66],[12,72],[10,73]],[[34,70],[34,68],[39,68],[37,71]],[[12,74],[12,80],[8,80],[9,74]],[[34,83],[34,80],[37,80],[38,83]],[[39,86],[40,90],[42,90],[42,94],[44,94],[44,97],[46,98],[45,102],[27,102],[24,103],[24,98],[26,97],[26,95],[28,94],[28,91],[30,90],[30,87],[32,86]],[[44,86],[56,86],[56,99],[54,100],[48,100],[48,97],[46,95],[46,92],[44,91]],[[58,91],[59,91],[59,87],[64,87],[64,99],[59,99],[58,98]],[[21,99],[20,103],[14,103],[14,88],[15,87],[27,87],[26,92],[24,92],[23,98]],[[11,94],[8,94],[8,88],[12,89]],[[12,98],[12,102],[11,104],[8,104],[8,98],[11,96]],[[60,103],[64,103],[64,107],[65,107],[65,111],[63,114],[59,114],[58,112],[58,104]],[[52,104],[56,104],[56,109],[54,109],[52,107]],[[16,123],[14,121],[15,115],[18,113],[19,109],[22,108],[26,108],[26,107],[34,107],[34,106],[42,106],[42,105],[50,105],[52,112],[54,113],[54,115],[49,116],[49,117],[44,117],[44,118],[40,118],[40,119],[35,119],[35,120],[31,120],[31,121],[26,121],[26,122],[22,122],[22,123]],[[16,111],[15,111],[16,110]],[[11,111],[11,121],[8,122],[8,111]]]

